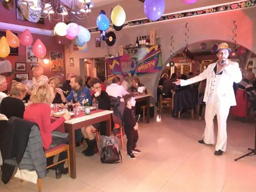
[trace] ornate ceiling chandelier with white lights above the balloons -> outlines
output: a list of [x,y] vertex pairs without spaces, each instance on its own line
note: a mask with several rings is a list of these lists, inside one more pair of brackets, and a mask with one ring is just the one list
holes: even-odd
[[18,0],[23,5],[26,5],[28,13],[31,17],[44,19],[49,18],[52,20],[83,20],[88,13],[91,12],[91,8],[94,7],[92,0]]

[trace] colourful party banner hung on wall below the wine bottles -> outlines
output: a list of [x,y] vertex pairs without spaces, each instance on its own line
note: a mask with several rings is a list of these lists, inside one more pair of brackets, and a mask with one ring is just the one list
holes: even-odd
[[113,79],[118,74],[132,77],[159,72],[162,69],[160,46],[139,48],[135,49],[134,53],[106,59],[106,69],[108,79]]

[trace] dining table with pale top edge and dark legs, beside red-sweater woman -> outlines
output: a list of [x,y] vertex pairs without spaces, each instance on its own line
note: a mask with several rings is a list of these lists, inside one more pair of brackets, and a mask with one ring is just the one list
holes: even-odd
[[[54,112],[61,111],[60,108],[53,109]],[[73,113],[73,112],[72,112]],[[94,123],[106,121],[106,136],[111,135],[111,114],[113,111],[108,110],[91,110],[90,115],[86,115],[84,111],[76,113],[71,116],[70,120],[66,120],[55,131],[69,133],[69,151],[70,151],[70,177],[76,178],[76,155],[75,155],[75,130],[81,129]],[[58,117],[51,117],[51,121],[57,120]]]

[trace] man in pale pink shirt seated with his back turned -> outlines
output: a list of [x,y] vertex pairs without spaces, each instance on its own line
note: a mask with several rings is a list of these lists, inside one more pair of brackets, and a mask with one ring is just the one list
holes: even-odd
[[111,105],[114,106],[114,114],[122,120],[125,108],[123,96],[129,93],[120,86],[121,81],[119,77],[114,77],[112,82],[110,86],[106,87],[106,93],[109,94]]

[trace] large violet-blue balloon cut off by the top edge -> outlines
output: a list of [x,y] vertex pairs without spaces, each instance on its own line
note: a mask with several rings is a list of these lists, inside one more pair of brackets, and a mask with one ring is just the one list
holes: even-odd
[[164,0],[145,0],[144,13],[151,20],[161,18],[165,10]]

